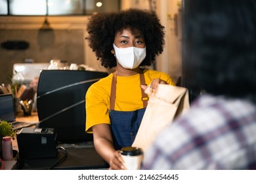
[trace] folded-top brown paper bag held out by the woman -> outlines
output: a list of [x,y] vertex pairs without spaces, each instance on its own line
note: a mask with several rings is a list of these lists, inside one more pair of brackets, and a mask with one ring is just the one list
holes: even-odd
[[[149,88],[145,90],[148,95],[150,95]],[[150,95],[148,106],[132,146],[140,147],[145,151],[156,139],[156,135],[161,129],[173,122],[189,107],[186,88],[159,84],[156,93]]]

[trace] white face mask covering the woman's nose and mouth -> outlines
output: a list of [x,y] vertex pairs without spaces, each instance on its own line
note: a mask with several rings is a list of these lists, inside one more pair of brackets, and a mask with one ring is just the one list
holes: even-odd
[[146,57],[146,47],[117,48],[115,44],[113,46],[118,63],[125,69],[135,69]]

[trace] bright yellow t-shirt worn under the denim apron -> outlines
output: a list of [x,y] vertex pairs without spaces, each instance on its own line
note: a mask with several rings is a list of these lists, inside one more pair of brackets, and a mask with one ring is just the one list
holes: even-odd
[[[165,80],[168,84],[175,85],[171,77],[165,73],[144,69],[147,85],[154,78]],[[85,95],[86,124],[85,131],[92,133],[91,127],[96,124],[110,124],[110,90],[113,74],[95,82]],[[133,111],[143,108],[141,100],[139,74],[133,76],[117,76],[116,101],[114,110]]]

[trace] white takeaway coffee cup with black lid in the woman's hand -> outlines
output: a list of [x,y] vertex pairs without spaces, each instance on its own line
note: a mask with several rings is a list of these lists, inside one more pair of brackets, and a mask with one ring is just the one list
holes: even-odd
[[121,148],[121,157],[127,170],[139,170],[143,159],[143,151],[137,147]]

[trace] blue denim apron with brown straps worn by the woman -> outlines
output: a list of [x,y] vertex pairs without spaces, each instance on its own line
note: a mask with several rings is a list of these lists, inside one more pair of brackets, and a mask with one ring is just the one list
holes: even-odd
[[[140,72],[140,84],[146,84],[143,71]],[[119,150],[125,146],[131,146],[135,140],[142,117],[146,110],[146,105],[148,103],[148,95],[146,95],[143,90],[141,90],[141,92],[141,99],[144,108],[134,111],[114,110],[116,100],[116,72],[113,73],[110,95],[110,120],[112,137],[116,150]]]

